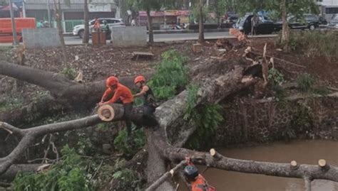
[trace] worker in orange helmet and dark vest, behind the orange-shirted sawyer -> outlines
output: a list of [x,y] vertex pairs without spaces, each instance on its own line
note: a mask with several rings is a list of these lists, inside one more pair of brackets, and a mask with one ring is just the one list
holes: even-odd
[[143,109],[145,114],[153,114],[156,107],[158,107],[153,90],[145,84],[145,77],[143,75],[135,77],[134,83],[136,87],[140,89],[140,92],[134,94],[133,97],[143,97]]

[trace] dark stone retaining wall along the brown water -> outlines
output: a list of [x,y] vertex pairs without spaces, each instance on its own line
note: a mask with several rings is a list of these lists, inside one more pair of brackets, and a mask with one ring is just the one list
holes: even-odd
[[338,94],[328,97],[235,99],[223,102],[225,123],[214,146],[285,140],[292,136],[338,139]]

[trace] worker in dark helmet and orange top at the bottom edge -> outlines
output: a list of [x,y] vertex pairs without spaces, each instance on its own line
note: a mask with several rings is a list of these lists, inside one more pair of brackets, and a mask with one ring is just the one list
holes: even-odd
[[185,158],[187,165],[183,170],[185,180],[190,183],[191,191],[216,191],[215,187],[208,185],[203,175],[198,173],[198,169],[193,165],[190,158]]

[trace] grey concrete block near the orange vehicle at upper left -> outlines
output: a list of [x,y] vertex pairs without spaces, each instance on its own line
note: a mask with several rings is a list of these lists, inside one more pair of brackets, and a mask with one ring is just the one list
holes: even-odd
[[26,48],[46,48],[61,46],[58,29],[56,28],[26,28],[22,30]]

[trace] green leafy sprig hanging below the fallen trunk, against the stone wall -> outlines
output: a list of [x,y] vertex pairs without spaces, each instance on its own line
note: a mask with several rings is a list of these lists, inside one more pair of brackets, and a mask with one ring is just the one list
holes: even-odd
[[221,109],[218,104],[204,104],[190,114],[190,122],[197,126],[195,133],[188,140],[190,147],[198,149],[210,145],[217,127],[224,121]]

